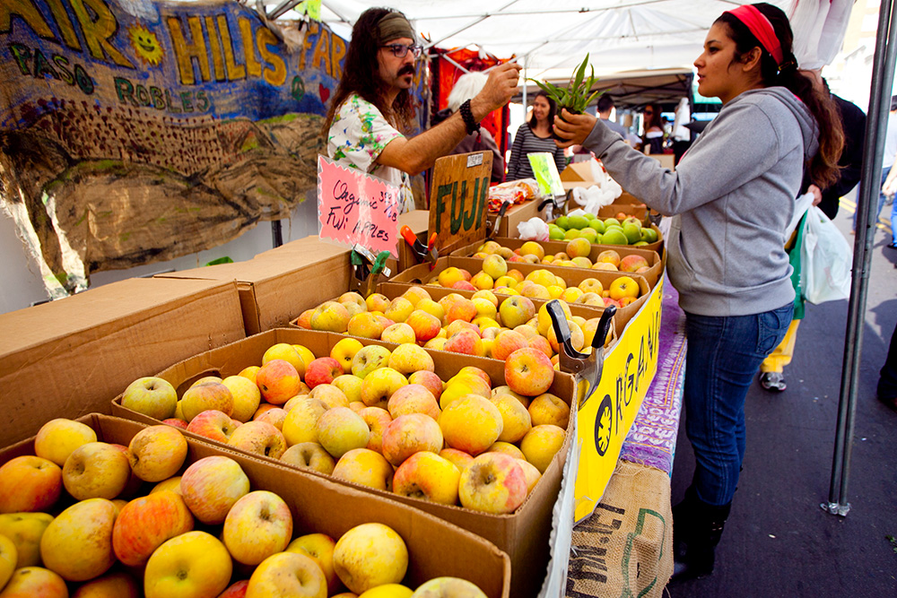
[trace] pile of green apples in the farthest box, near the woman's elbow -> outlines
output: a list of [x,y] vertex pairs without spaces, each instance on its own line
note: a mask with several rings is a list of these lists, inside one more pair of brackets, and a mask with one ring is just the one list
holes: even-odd
[[658,231],[642,226],[635,216],[620,212],[615,218],[601,220],[595,214],[583,213],[561,216],[548,224],[548,238],[553,241],[565,238],[585,238],[599,245],[631,245],[643,247],[658,240]]

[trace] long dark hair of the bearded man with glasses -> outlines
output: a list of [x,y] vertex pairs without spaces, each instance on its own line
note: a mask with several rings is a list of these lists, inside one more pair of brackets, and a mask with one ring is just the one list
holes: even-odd
[[414,118],[414,99],[411,93],[408,90],[399,91],[392,106],[386,106],[383,100],[383,82],[379,78],[377,54],[380,42],[377,25],[388,13],[395,12],[397,11],[389,8],[369,8],[361,13],[355,22],[352,28],[352,41],[345,55],[343,77],[330,98],[330,108],[327,108],[327,118],[324,119],[324,126],[321,128],[325,141],[336,111],[353,93],[376,106],[400,131],[403,133],[410,131]]

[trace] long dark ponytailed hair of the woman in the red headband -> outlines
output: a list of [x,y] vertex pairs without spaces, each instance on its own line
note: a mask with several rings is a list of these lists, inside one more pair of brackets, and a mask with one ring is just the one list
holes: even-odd
[[838,160],[844,147],[844,131],[838,106],[827,92],[815,88],[813,82],[797,70],[797,60],[792,49],[794,34],[785,13],[764,2],[753,4],[753,6],[769,19],[772,29],[775,30],[782,47],[782,57],[784,58],[782,65],[778,65],[775,58],[763,49],[760,41],[748,30],[745,23],[739,21],[732,14],[723,13],[717,22],[727,25],[729,34],[735,41],[736,61],[741,61],[742,57],[753,48],[760,48],[762,50],[760,73],[763,85],[766,87],[780,85],[787,88],[810,109],[819,128],[819,152],[816,152],[807,167],[810,179],[817,186],[823,188],[831,186],[840,178]]

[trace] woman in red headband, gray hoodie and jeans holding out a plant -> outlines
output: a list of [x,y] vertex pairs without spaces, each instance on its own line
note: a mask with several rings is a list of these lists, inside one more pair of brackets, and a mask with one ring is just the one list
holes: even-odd
[[797,71],[788,18],[771,4],[723,13],[694,61],[698,91],[723,108],[675,171],[634,152],[588,115],[563,111],[558,136],[594,152],[611,176],[673,216],[667,273],[686,315],[685,430],[695,471],[673,508],[674,579],[707,575],[745,455],[745,395],[791,321],[785,229],[807,169],[838,178],[832,100]]

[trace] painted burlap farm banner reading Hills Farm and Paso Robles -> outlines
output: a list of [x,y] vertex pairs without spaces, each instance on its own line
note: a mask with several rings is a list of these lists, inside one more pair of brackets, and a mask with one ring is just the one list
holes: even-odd
[[48,294],[288,218],[347,47],[232,0],[0,0],[0,202]]

